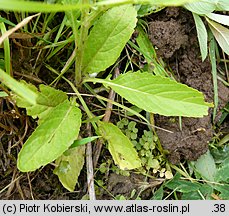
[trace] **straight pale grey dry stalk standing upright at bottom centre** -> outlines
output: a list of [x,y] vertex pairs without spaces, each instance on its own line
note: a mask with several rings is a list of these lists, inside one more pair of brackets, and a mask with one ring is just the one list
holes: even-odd
[[[91,124],[87,123],[88,136],[91,136]],[[91,142],[86,147],[86,160],[87,160],[87,186],[90,200],[96,200],[95,187],[94,187],[94,170],[92,162],[92,147]]]

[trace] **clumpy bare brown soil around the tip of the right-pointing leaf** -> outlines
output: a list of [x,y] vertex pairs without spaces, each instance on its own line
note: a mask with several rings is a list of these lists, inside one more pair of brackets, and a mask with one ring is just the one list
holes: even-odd
[[[203,92],[206,101],[213,102],[211,65],[208,59],[201,61],[194,26],[191,13],[184,13],[180,8],[167,8],[150,23],[149,38],[158,48],[158,56],[167,59],[176,72],[176,79]],[[229,100],[229,89],[218,82],[218,91],[220,110]],[[182,128],[178,118],[157,116],[156,124],[173,132],[157,131],[172,163],[198,159],[207,151],[214,132],[212,110],[203,118],[182,118]]]

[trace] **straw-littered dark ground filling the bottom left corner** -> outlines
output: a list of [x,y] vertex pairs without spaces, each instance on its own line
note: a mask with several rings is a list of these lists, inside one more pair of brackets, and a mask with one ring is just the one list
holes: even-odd
[[16,160],[21,146],[36,127],[35,121],[19,110],[9,98],[0,98],[0,200],[1,199],[81,199],[85,194],[84,173],[81,190],[69,193],[53,174],[51,165],[31,173],[20,173]]

